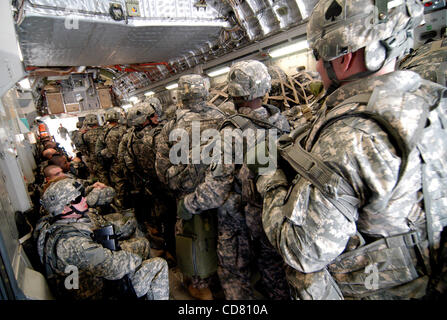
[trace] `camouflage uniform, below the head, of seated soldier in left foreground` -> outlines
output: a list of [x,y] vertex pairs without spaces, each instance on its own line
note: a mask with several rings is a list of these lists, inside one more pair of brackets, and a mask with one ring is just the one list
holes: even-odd
[[[42,219],[38,224],[38,252],[46,264],[47,276],[56,279],[62,297],[101,299],[104,297],[104,292],[101,292],[103,279],[117,280],[127,274],[138,297],[169,298],[167,264],[160,258],[144,260],[149,252],[146,239],[122,241],[123,250],[110,251],[92,241],[91,235],[96,228],[87,216],[61,219],[52,224]],[[140,245],[137,245],[138,242]],[[145,242],[147,249],[142,249],[141,244]],[[135,251],[126,251],[129,249]],[[65,268],[69,265],[79,269],[79,290],[63,288],[67,276]]]

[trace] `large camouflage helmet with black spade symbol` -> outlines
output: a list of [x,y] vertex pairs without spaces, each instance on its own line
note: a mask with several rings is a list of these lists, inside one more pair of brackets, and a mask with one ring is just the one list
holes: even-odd
[[315,58],[329,61],[365,48],[369,73],[406,54],[413,29],[424,19],[419,0],[321,0],[307,24],[307,40]]

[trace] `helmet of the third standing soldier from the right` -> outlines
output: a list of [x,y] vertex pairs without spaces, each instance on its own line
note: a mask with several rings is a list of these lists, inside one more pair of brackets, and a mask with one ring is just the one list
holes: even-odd
[[178,93],[182,101],[205,100],[209,95],[210,82],[198,74],[181,76],[178,81]]

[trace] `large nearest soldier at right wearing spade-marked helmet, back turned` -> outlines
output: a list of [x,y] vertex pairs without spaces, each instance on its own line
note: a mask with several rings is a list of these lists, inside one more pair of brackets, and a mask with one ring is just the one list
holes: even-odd
[[282,170],[257,181],[297,299],[420,298],[436,269],[445,88],[394,71],[421,2],[383,3],[316,5],[307,36],[329,95],[310,131],[280,139]]

